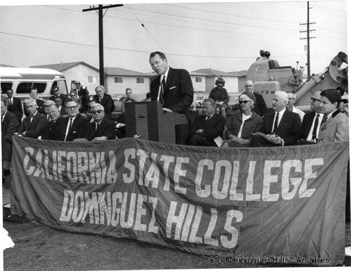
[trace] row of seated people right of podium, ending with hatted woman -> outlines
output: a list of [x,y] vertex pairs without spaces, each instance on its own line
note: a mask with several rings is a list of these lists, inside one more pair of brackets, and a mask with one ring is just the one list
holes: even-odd
[[261,117],[253,112],[255,96],[244,92],[239,96],[240,111],[226,121],[215,113],[216,102],[206,99],[204,115],[191,125],[190,145],[260,147],[348,141],[348,116],[340,112],[341,102],[338,90],[315,92],[310,101],[312,111],[303,116],[301,111],[294,112],[294,106],[288,108],[289,95],[278,91],[272,98],[274,111]]

